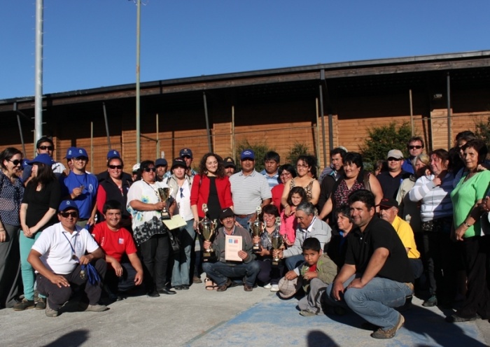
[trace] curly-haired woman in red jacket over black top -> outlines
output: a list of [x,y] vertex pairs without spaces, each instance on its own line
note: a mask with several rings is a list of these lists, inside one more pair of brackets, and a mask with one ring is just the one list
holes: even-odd
[[214,153],[207,153],[199,164],[199,174],[194,177],[190,190],[190,208],[194,215],[194,229],[197,221],[204,218],[202,204],[208,206],[208,218],[218,220],[223,208],[233,209],[230,180],[225,174],[223,159]]

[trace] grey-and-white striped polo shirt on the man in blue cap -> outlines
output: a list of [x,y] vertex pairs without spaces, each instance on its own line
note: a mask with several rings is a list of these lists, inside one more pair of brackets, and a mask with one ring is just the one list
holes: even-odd
[[255,213],[255,208],[262,205],[262,201],[272,199],[267,180],[255,170],[248,176],[243,171],[237,172],[230,177],[230,184],[233,210],[237,215]]

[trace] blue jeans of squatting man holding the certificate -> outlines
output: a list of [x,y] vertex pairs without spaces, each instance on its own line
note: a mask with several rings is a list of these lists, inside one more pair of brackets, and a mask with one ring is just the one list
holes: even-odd
[[202,270],[217,285],[225,285],[228,278],[243,278],[246,285],[251,287],[255,284],[260,266],[257,261],[252,260],[243,264],[230,264],[224,262],[204,262]]

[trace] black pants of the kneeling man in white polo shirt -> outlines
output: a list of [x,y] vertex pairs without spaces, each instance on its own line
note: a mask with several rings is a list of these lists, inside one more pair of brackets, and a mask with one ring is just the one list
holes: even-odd
[[[105,260],[97,259],[92,261],[90,264],[97,270],[101,279],[106,276],[107,264]],[[87,295],[88,303],[90,305],[95,305],[99,302],[100,295],[102,293],[102,284],[97,283],[96,285],[91,285],[87,281],[87,276],[85,279],[80,277],[80,270],[82,267],[80,264],[76,266],[76,268],[71,271],[71,274],[61,275],[69,283],[73,283],[76,285],[85,284],[85,295]],[[38,291],[48,297],[48,305],[51,309],[58,311],[61,306],[65,302],[70,299],[71,296],[71,287],[62,287],[59,288],[56,284],[51,283],[48,278],[41,276],[41,274],[37,274],[37,289]]]

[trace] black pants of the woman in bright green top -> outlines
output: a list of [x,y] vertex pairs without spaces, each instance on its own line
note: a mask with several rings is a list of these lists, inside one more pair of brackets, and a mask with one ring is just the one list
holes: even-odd
[[463,305],[456,312],[463,318],[472,318],[479,314],[490,318],[490,292],[487,265],[490,256],[490,236],[473,236],[464,239],[463,257],[468,291]]

